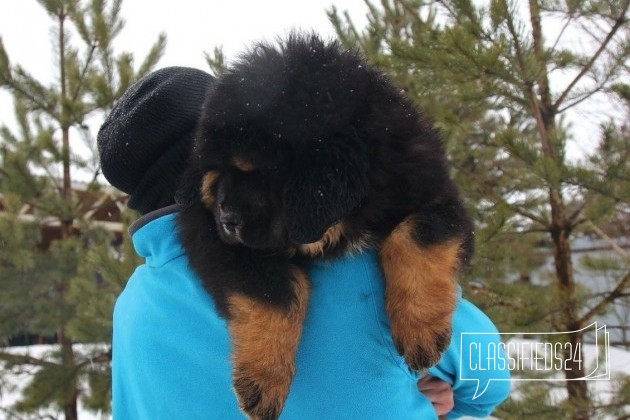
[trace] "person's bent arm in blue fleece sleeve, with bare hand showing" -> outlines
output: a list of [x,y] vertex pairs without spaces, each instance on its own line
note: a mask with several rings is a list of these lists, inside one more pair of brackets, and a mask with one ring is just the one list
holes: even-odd
[[[464,340],[462,333],[467,333]],[[440,362],[428,371],[431,377],[445,381],[452,387],[453,408],[447,413],[447,418],[486,417],[508,397],[510,372],[507,363],[502,362],[506,360],[506,356],[500,342],[500,336],[492,321],[472,303],[460,299],[453,315],[451,344]],[[495,356],[492,363],[474,360],[476,355],[481,354],[481,349],[488,348],[493,350]],[[483,363],[483,366],[480,363]],[[425,379],[423,383],[421,379],[418,387],[426,388],[429,384],[427,381]],[[432,391],[434,398],[447,397],[443,387],[436,389],[438,383],[436,380],[430,383],[434,388]],[[488,387],[482,392],[486,384]],[[475,397],[476,394],[478,395]],[[436,407],[436,401],[429,395],[427,397]]]

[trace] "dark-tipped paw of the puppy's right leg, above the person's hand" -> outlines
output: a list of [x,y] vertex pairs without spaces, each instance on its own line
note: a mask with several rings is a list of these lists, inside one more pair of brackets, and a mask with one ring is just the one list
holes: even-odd
[[451,341],[450,320],[431,324],[399,322],[405,325],[392,325],[392,336],[407,365],[415,371],[435,365]]

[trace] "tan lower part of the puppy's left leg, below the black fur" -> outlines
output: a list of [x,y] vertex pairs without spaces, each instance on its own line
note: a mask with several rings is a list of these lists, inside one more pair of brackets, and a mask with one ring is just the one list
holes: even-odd
[[242,293],[228,298],[233,379],[241,409],[251,418],[277,419],[295,373],[308,301],[306,275],[294,268],[292,299],[271,305]]

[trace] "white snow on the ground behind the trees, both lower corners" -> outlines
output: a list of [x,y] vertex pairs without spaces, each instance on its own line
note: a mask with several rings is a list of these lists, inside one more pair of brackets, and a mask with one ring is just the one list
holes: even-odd
[[[510,357],[519,357],[518,351],[530,353],[531,346],[534,342],[522,338],[512,338],[508,341],[511,345],[508,347]],[[78,351],[86,351],[81,346],[77,346]],[[513,349],[519,349],[517,352]],[[33,357],[44,357],[50,354],[54,350],[53,346],[29,346],[29,347],[14,347],[11,349],[15,354],[28,354]],[[599,353],[598,353],[599,350]],[[599,354],[600,364],[603,359],[601,348],[597,348],[593,345],[584,346],[585,363],[586,366],[594,366],[596,363],[596,355]],[[600,368],[602,366],[600,365]],[[607,358],[607,369],[610,371],[611,379],[620,375],[630,375],[630,351],[621,350],[619,348],[610,347]],[[49,419],[49,420],[63,420],[63,414],[55,411],[54,409],[42,409],[37,413],[22,414],[12,413],[11,407],[18,400],[20,390],[27,383],[29,377],[33,374],[33,370],[22,369],[21,371],[15,371],[10,375],[6,375],[0,378],[0,419],[3,420],[31,420],[31,419]],[[512,382],[513,395],[518,394],[519,384],[521,381]],[[589,381],[589,389],[595,395],[597,395],[603,401],[606,401],[610,397],[610,390],[612,387],[611,380],[596,380]],[[557,401],[566,398],[566,392],[562,387],[558,387],[551,395],[552,399]],[[110,420],[111,415],[109,413],[98,413],[85,410],[83,407],[79,407],[79,419],[80,420]]]

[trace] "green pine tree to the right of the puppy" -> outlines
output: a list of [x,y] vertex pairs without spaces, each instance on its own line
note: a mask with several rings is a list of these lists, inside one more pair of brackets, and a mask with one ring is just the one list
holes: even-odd
[[[477,222],[470,278],[498,280],[478,292],[485,296],[481,306],[503,327],[542,323],[574,331],[567,339],[580,348],[579,330],[627,298],[630,273],[622,253],[613,286],[594,296],[576,282],[572,240],[594,234],[614,244],[603,227],[627,216],[630,168],[627,127],[604,130],[595,150],[569,159],[567,145],[576,132],[565,115],[597,95],[626,106],[630,2],[366,4],[364,30],[334,8],[329,16],[342,42],[389,72],[442,128]],[[568,36],[592,48],[565,42]],[[552,281],[534,288],[527,278],[544,261],[545,248],[552,253]],[[507,282],[510,273],[522,273],[523,281]],[[564,408],[574,418],[588,417],[587,383],[571,380],[584,377],[584,367],[565,357],[571,370]]]

